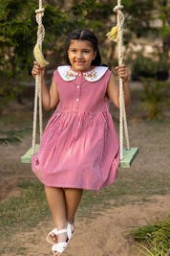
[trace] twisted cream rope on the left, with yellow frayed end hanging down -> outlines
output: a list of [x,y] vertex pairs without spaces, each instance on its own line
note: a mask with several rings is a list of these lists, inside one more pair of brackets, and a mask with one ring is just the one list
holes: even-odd
[[[39,9],[35,11],[36,22],[38,23],[37,42],[33,49],[34,58],[41,67],[45,67],[48,62],[42,54],[42,42],[45,36],[45,29],[42,24],[42,17],[44,16],[44,9],[42,8],[42,0],[39,0]],[[33,128],[32,128],[32,154],[35,152],[36,141],[36,122],[37,122],[37,106],[39,98],[39,133],[40,140],[43,133],[43,115],[42,115],[42,97],[41,97],[41,73],[35,78],[35,92],[34,92],[34,109],[33,109]]]

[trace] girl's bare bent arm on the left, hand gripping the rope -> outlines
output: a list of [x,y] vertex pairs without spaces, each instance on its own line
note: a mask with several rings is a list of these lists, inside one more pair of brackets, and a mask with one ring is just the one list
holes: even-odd
[[34,61],[33,68],[32,68],[33,78],[35,78],[36,75],[40,74],[40,72],[41,72],[42,104],[47,111],[50,111],[59,102],[59,94],[54,84],[54,81],[52,81],[50,91],[48,90],[45,79],[44,79],[45,68],[40,67],[38,63]]

